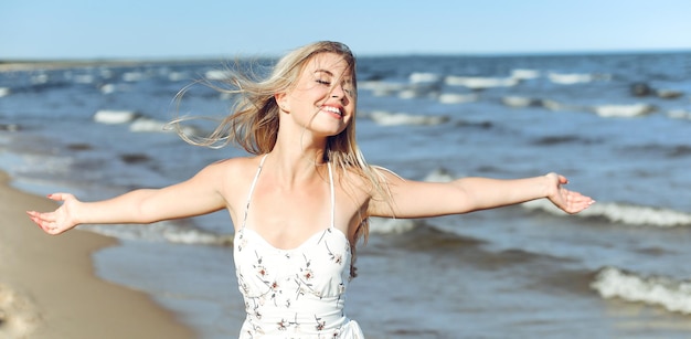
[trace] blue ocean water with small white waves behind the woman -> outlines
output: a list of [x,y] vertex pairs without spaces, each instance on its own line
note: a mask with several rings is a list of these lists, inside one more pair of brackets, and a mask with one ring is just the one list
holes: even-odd
[[[245,156],[163,128],[176,113],[227,113],[231,98],[193,84],[224,65],[0,73],[0,169],[29,192],[95,200]],[[370,163],[429,181],[556,171],[597,201],[576,215],[534,201],[373,220],[347,303],[368,338],[691,338],[691,52],[361,56],[358,80]],[[227,213],[81,227],[120,240],[94,254],[98,276],[148,293],[200,338],[237,335]]]

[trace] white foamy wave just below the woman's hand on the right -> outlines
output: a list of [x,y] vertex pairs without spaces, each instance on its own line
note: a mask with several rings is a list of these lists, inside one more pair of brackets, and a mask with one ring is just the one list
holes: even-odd
[[[529,210],[541,210],[556,215],[566,215],[546,199],[522,204]],[[652,208],[618,202],[597,202],[576,214],[581,218],[604,218],[613,223],[636,226],[674,227],[691,226],[691,214],[670,209]]]

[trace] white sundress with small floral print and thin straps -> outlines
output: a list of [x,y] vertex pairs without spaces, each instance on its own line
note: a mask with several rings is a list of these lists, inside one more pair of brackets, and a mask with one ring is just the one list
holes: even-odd
[[234,241],[235,272],[247,311],[240,338],[364,338],[358,322],[343,310],[352,254],[348,237],[333,226],[331,165],[331,225],[294,250],[280,250],[245,225],[265,159]]

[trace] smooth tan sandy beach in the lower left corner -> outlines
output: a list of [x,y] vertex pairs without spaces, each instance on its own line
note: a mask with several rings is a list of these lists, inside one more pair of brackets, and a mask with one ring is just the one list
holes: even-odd
[[115,240],[44,234],[24,211],[55,204],[8,180],[0,172],[0,338],[194,338],[146,294],[95,276],[91,254]]

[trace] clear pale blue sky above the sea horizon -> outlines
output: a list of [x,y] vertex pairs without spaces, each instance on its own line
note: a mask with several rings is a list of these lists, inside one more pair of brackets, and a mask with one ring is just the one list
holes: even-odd
[[0,60],[691,51],[689,0],[0,0]]

